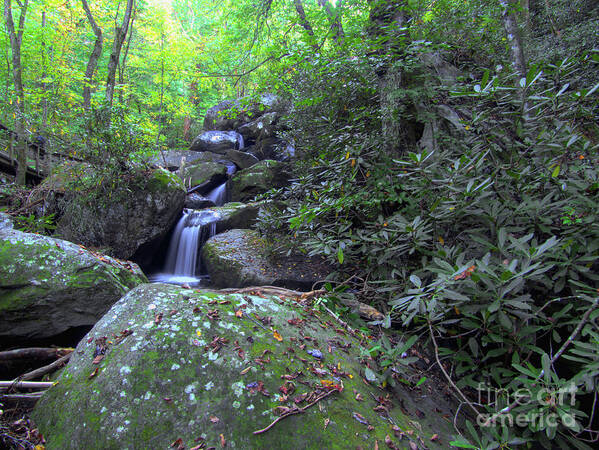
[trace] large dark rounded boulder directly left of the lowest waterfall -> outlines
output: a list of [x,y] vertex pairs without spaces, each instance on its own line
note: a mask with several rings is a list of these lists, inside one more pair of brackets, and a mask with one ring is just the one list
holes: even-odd
[[129,259],[166,235],[181,214],[185,194],[182,180],[166,169],[92,192],[67,191],[56,235]]

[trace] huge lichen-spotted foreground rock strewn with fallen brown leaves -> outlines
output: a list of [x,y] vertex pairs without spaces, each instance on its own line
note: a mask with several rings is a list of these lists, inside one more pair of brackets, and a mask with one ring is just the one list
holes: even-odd
[[[142,285],[79,343],[33,419],[50,449],[447,448],[453,412],[434,381],[375,412],[386,392],[368,339],[333,320],[278,296]],[[306,409],[254,434],[288,408]]]

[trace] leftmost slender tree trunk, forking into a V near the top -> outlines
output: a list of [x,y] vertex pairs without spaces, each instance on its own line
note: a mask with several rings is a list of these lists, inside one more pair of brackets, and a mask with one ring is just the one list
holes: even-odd
[[27,144],[25,139],[25,91],[23,89],[23,72],[21,68],[21,43],[23,42],[23,30],[29,0],[21,4],[21,16],[19,17],[19,28],[15,30],[12,18],[11,0],[4,0],[4,20],[10,38],[12,51],[12,73],[17,101],[15,103],[15,125],[21,145],[17,146],[17,184],[25,184],[27,174]]

